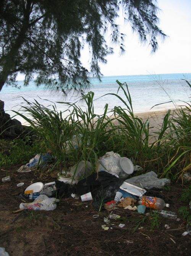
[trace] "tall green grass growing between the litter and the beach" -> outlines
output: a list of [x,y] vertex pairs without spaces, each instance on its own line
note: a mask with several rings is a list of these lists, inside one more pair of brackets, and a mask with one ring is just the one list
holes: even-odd
[[128,85],[117,83],[125,99],[118,91],[110,95],[125,107],[115,106],[109,111],[105,104],[102,116],[94,111],[94,92],[82,97],[84,108],[77,102],[58,102],[68,106],[62,112],[55,105],[44,107],[37,101],[24,100],[24,114],[15,113],[29,122],[44,141],[45,149],[55,158],[52,169],[67,170],[84,160],[91,162],[96,172],[99,157],[114,151],[122,157],[133,157],[143,172],[154,170],[171,179],[182,177],[191,167],[191,105],[177,108],[176,112],[169,110],[151,143],[149,119],[144,122],[134,115]]

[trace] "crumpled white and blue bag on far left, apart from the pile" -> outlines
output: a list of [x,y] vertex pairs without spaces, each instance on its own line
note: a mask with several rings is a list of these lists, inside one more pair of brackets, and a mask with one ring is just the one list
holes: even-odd
[[50,154],[37,154],[35,157],[33,157],[28,164],[22,165],[18,172],[30,172],[31,170],[42,167],[45,168],[52,162],[52,155]]

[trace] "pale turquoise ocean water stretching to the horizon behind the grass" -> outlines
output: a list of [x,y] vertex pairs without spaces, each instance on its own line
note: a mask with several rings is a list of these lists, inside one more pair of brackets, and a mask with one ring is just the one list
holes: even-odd
[[[121,101],[112,95],[103,96],[107,93],[117,93],[118,84],[116,80],[121,83],[128,84],[129,92],[133,103],[133,110],[135,113],[147,111],[159,111],[174,108],[174,104],[183,105],[183,102],[189,102],[191,97],[191,89],[189,88],[186,79],[191,82],[191,73],[186,74],[155,74],[155,75],[131,75],[131,76],[104,76],[100,82],[98,79],[91,79],[92,86],[89,91],[95,93],[94,96],[94,112],[101,115],[104,111],[104,106],[108,103],[108,108],[112,109],[114,106],[123,106]],[[49,106],[52,102],[76,102],[79,96],[75,94],[63,97],[62,94],[56,93],[53,90],[45,90],[44,86],[36,87],[34,81],[25,87],[23,81],[18,81],[18,86],[21,89],[13,88],[11,86],[4,86],[0,92],[0,99],[5,102],[5,111],[12,116],[12,110],[20,111],[23,104],[23,98],[34,101],[36,99],[40,104]],[[118,94],[125,99],[122,90]],[[101,97],[103,96],[103,97]],[[47,101],[48,100],[48,101]],[[154,107],[155,104],[168,102],[173,100],[173,103],[166,103]],[[55,103],[59,111],[65,111],[65,104]],[[84,105],[83,101],[79,101],[78,105]],[[21,117],[15,117],[24,122]]]

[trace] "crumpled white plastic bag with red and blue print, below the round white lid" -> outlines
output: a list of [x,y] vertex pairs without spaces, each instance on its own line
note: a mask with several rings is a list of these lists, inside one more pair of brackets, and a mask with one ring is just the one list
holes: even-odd
[[39,195],[32,203],[21,203],[20,209],[34,210],[34,211],[53,211],[57,208],[56,198],[49,198],[46,195]]

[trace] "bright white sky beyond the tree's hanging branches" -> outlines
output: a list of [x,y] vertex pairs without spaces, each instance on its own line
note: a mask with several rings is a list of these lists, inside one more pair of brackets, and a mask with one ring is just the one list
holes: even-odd
[[[120,17],[118,24],[121,33],[126,34],[126,52],[120,56],[118,46],[113,47],[114,54],[107,57],[107,64],[100,64],[104,76],[191,73],[191,0],[158,0],[158,6],[159,27],[168,38],[159,40],[159,49],[151,55],[148,44],[141,45],[138,36]],[[87,48],[82,51],[81,61],[89,67]],[[19,74],[17,79],[24,78]]]

